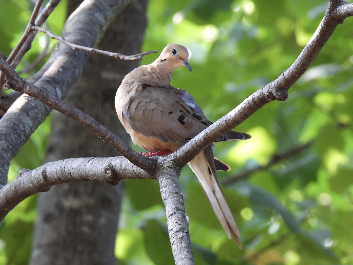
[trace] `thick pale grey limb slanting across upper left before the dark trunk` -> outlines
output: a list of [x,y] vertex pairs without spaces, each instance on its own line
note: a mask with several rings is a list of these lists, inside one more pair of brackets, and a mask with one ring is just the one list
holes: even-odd
[[[63,37],[74,43],[91,47],[100,41],[109,22],[132,0],[87,1],[91,2],[89,6],[79,8],[67,20]],[[80,30],[82,34],[77,34],[76,30]],[[36,75],[35,80],[38,87],[45,88],[57,98],[63,98],[82,71],[88,59],[88,53],[75,52],[62,43],[58,46],[60,48],[55,49],[40,70],[41,75]],[[51,109],[39,100],[25,95],[22,95],[10,108],[14,111],[5,113],[0,119],[0,185],[7,183],[8,165],[13,156],[43,122]]]

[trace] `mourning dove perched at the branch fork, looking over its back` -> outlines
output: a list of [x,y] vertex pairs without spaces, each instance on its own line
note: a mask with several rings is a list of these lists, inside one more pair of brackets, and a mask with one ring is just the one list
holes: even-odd
[[[132,141],[148,152],[147,156],[178,150],[211,122],[186,90],[170,86],[172,72],[186,66],[189,52],[178,44],[167,45],[151,64],[142,65],[122,80],[115,96],[115,108],[121,124]],[[251,136],[230,131],[217,141],[245,140]],[[241,248],[239,231],[220,190],[216,169],[228,171],[227,164],[213,157],[209,146],[189,163],[210,205],[229,239],[234,236]]]

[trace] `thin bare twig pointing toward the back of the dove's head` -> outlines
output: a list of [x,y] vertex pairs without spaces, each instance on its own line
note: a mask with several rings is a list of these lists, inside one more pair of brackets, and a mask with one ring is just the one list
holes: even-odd
[[103,51],[103,50],[100,50],[100,49],[89,48],[89,47],[85,47],[85,46],[74,44],[74,43],[72,43],[70,41],[65,40],[63,37],[55,35],[50,30],[43,29],[43,28],[38,27],[38,26],[32,26],[31,29],[32,30],[36,30],[36,31],[40,31],[42,33],[45,33],[49,37],[51,37],[52,39],[58,40],[58,41],[60,41],[62,43],[65,43],[67,46],[71,47],[74,50],[82,50],[82,51],[86,51],[86,52],[93,52],[93,53],[103,54],[103,55],[107,55],[109,57],[113,57],[115,59],[120,59],[120,60],[130,60],[130,61],[141,60],[144,55],[148,55],[148,54],[157,52],[157,51],[147,51],[147,52],[143,52],[143,53],[139,53],[139,54],[135,54],[135,55],[123,55],[123,54],[120,54],[118,52],[107,52],[107,51]]

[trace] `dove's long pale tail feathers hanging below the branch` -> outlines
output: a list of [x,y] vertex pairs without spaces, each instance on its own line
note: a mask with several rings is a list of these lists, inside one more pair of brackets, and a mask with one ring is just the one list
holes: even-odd
[[190,168],[196,174],[216,217],[220,221],[229,239],[233,237],[241,249],[240,234],[233,219],[231,210],[224,198],[217,181],[214,165],[214,157],[211,146],[199,153],[189,163]]

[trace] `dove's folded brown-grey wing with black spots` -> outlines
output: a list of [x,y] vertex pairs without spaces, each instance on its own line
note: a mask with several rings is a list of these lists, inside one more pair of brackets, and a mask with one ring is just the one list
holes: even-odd
[[163,142],[191,139],[211,122],[185,102],[185,92],[173,87],[141,85],[122,106],[122,114],[136,133],[154,136]]

